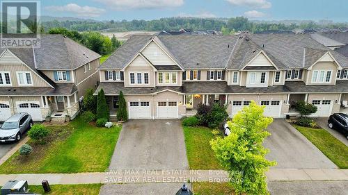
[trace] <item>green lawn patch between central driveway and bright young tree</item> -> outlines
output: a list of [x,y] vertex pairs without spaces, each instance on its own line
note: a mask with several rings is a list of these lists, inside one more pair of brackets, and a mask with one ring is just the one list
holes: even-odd
[[214,139],[212,129],[206,127],[183,128],[190,169],[221,169],[209,144],[209,141]]

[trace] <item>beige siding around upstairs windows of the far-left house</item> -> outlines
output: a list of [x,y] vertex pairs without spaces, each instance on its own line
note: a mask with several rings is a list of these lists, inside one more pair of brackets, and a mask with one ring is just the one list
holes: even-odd
[[[26,85],[25,87],[49,87],[49,85],[40,76],[31,71],[26,65],[0,65],[0,71],[10,72],[12,87],[20,87],[17,80],[17,71],[30,71],[33,85]],[[8,86],[7,86],[8,87]]]

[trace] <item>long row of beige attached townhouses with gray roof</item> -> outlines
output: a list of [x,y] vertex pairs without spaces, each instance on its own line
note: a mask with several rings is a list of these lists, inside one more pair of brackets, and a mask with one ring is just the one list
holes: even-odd
[[129,119],[193,115],[200,103],[228,105],[230,117],[255,101],[264,115],[313,117],[348,112],[348,59],[308,35],[134,35],[100,67],[100,85],[116,116],[125,94]]

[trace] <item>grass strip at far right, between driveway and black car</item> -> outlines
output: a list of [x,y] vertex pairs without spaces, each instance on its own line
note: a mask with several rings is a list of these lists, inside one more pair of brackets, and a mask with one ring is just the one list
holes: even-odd
[[322,128],[294,125],[307,139],[341,169],[348,169],[348,146]]

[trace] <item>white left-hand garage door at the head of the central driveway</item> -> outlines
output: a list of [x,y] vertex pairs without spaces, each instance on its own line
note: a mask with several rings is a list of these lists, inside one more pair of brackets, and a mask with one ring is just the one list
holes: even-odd
[[128,103],[129,119],[150,119],[149,101],[131,101]]

